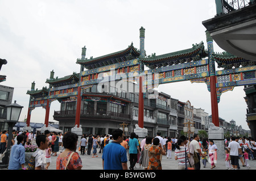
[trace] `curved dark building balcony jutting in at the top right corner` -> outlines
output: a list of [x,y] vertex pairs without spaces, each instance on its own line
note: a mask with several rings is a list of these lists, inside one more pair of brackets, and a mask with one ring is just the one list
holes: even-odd
[[256,1],[215,2],[217,15],[203,22],[212,39],[226,52],[256,61]]

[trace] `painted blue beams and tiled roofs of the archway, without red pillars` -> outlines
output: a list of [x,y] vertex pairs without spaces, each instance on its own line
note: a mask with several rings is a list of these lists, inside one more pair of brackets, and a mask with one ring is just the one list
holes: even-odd
[[[212,49],[210,49],[212,51]],[[210,91],[210,75],[216,75],[217,101],[226,91],[232,91],[236,86],[256,83],[256,63],[233,56],[229,53],[212,53],[205,50],[204,43],[193,44],[192,48],[156,56],[141,56],[133,47],[133,43],[126,49],[105,56],[85,58],[86,48],[82,48],[82,58],[77,59],[81,65],[79,74],[73,73],[63,78],[47,79],[49,89],[27,91],[30,95],[29,108],[46,107],[47,100],[70,101],[76,100],[78,89],[81,87],[81,96],[99,83],[111,81],[138,82],[143,78],[143,92],[154,89],[160,84],[191,81],[191,83],[205,83]],[[208,58],[207,58],[208,57]],[[210,59],[210,60],[209,60]],[[213,71],[209,61],[215,61],[218,68]],[[147,69],[144,70],[144,67]],[[85,69],[85,70],[84,70]],[[93,96],[92,96],[93,98]],[[90,98],[91,100],[94,100]],[[84,100],[84,98],[82,98]]]

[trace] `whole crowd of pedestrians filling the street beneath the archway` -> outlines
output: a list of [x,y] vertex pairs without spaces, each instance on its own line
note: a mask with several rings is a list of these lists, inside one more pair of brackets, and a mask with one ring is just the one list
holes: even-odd
[[[7,132],[3,131],[0,154],[5,151],[7,138]],[[51,157],[57,157],[56,170],[80,170],[82,155],[92,154],[92,157],[96,158],[98,157],[97,149],[98,153],[102,153],[102,169],[106,170],[134,170],[137,163],[145,170],[162,170],[162,157],[174,158],[179,170],[200,170],[201,164],[206,167],[208,163],[210,169],[214,169],[217,163],[217,145],[208,138],[200,139],[199,134],[196,133],[191,138],[185,136],[171,138],[162,137],[158,132],[155,137],[146,136],[139,139],[134,132],[130,136],[124,136],[120,129],[116,129],[110,135],[83,134],[80,142],[78,140],[77,134],[72,132],[66,132],[63,135],[46,130],[43,134],[36,135],[33,132],[14,130],[9,169],[27,169],[24,166],[24,145],[31,144],[38,146],[32,155],[35,158],[35,170],[47,170],[51,164]],[[239,161],[242,166],[250,169],[248,160],[250,158],[254,160],[256,153],[256,143],[253,138],[226,138],[225,146],[227,169],[240,169]],[[127,163],[130,163],[129,166]]]

